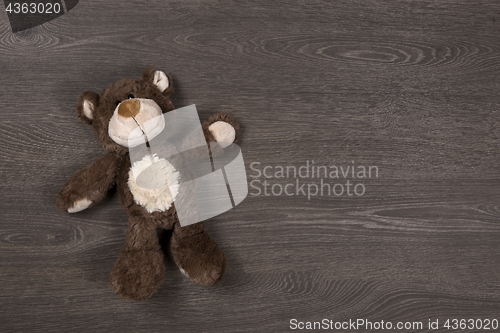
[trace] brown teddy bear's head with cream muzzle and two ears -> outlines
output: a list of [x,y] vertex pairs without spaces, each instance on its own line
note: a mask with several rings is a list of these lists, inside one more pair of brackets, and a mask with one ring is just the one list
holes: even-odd
[[[109,85],[99,95],[81,94],[77,115],[90,124],[102,147],[124,154],[129,147],[142,143],[143,133],[159,133],[161,115],[174,109],[171,78],[162,71],[147,69],[140,79],[123,79]],[[139,131],[138,131],[139,130]]]

